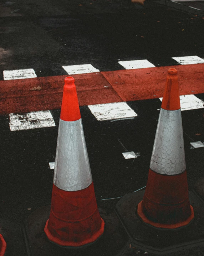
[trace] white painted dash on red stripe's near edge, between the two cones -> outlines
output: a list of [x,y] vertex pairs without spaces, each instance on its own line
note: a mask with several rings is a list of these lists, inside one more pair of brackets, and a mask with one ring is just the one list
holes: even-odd
[[124,119],[137,116],[126,102],[89,105],[88,108],[98,121]]

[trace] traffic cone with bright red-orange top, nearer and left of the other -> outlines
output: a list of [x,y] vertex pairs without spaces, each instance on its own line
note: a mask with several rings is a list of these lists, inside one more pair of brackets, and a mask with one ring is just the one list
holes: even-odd
[[58,128],[50,217],[44,231],[63,247],[95,242],[104,231],[100,217],[73,77],[65,78]]

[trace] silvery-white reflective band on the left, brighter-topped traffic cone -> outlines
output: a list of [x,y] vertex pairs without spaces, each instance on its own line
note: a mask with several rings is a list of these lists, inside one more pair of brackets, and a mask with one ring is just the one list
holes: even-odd
[[81,119],[60,119],[53,183],[65,191],[77,191],[92,183]]

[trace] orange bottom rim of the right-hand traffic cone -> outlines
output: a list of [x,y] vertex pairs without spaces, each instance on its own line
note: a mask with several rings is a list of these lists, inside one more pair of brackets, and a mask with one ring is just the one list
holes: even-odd
[[179,223],[175,223],[175,224],[161,224],[161,223],[156,223],[153,221],[150,221],[143,213],[142,211],[142,201],[138,204],[137,207],[137,214],[139,216],[139,218],[147,225],[152,226],[154,228],[157,229],[166,229],[166,230],[178,230],[178,228],[183,228],[186,227],[190,224],[190,222],[193,220],[194,218],[194,210],[193,207],[190,205],[190,211],[191,211],[191,215],[188,217],[188,219],[186,221],[182,221]]

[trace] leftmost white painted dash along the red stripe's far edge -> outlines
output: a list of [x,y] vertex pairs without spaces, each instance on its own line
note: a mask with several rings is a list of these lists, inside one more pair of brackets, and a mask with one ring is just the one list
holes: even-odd
[[16,69],[16,70],[4,70],[4,80],[12,79],[25,79],[25,78],[34,78],[37,77],[34,69]]

